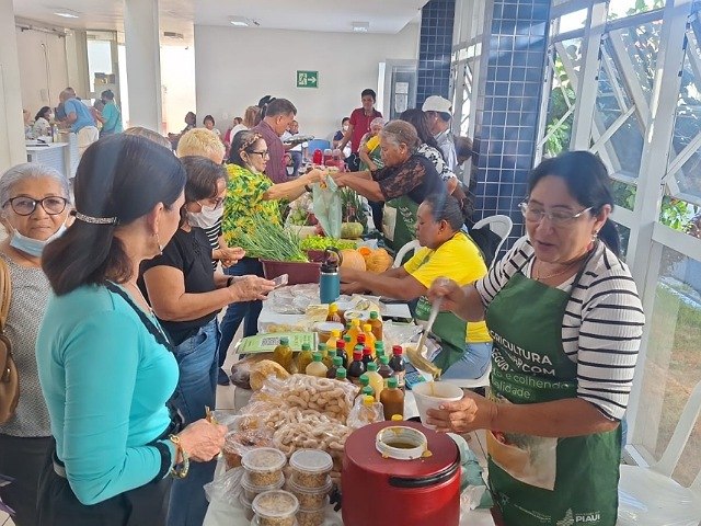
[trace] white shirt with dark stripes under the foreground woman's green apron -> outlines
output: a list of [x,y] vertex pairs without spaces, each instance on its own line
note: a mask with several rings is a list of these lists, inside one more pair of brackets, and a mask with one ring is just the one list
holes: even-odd
[[[484,307],[517,272],[531,277],[535,251],[527,237],[489,274],[475,282]],[[628,407],[645,316],[628,266],[602,242],[597,243],[579,283],[558,288],[571,293],[562,320],[562,345],[577,364],[577,396],[611,420]]]

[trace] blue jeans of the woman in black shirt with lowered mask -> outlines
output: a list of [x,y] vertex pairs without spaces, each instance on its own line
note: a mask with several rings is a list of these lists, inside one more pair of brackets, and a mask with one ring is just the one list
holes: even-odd
[[[174,350],[180,379],[173,402],[185,424],[204,419],[205,405],[215,409],[218,348],[219,329],[215,319]],[[168,526],[202,526],[208,506],[203,485],[211,482],[216,465],[216,460],[191,461],[187,477],[173,481]]]

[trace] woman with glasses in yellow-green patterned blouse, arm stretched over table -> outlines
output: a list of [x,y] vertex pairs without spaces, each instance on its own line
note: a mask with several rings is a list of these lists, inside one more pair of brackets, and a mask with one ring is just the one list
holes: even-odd
[[[262,215],[275,225],[281,225],[278,199],[295,201],[311,184],[324,180],[325,172],[312,170],[299,178],[286,182],[273,184],[265,175],[265,165],[268,160],[265,139],[254,132],[239,132],[231,141],[229,153],[229,183],[227,184],[227,197],[225,198],[223,236],[229,247],[241,247],[246,250],[245,243],[239,239],[239,232],[250,231],[251,218]],[[225,271],[230,276],[245,274],[263,275],[263,266],[257,259],[243,258],[239,263]],[[226,354],[239,324],[245,318],[243,335],[250,336],[257,333],[261,301],[232,304],[221,321],[221,343],[219,352]]]

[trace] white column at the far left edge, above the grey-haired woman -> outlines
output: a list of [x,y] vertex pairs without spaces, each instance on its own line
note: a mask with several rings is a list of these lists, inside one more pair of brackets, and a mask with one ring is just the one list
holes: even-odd
[[0,172],[26,162],[12,0],[0,0]]

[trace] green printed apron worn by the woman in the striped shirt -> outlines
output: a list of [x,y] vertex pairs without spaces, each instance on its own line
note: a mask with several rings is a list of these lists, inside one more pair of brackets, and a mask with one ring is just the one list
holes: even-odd
[[[575,284],[579,276],[575,278]],[[501,403],[575,398],[577,365],[564,353],[570,294],[517,272],[492,300],[492,397]],[[620,426],[548,438],[486,432],[490,487],[508,526],[613,526]]]

